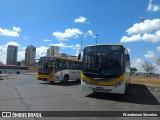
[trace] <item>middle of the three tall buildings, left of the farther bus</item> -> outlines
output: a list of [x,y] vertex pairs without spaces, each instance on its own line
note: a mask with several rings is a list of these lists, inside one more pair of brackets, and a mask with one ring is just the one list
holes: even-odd
[[25,50],[25,63],[27,65],[32,65],[36,62],[36,47],[30,45]]

